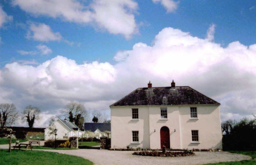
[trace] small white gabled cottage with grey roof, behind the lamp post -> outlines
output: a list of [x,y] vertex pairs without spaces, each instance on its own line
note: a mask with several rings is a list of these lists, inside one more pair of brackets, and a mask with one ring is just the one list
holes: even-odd
[[67,120],[57,119],[44,130],[45,140],[55,139],[55,135],[49,135],[49,128],[54,125],[57,129],[56,139],[68,139],[72,136],[81,137],[84,129],[79,129],[75,123]]

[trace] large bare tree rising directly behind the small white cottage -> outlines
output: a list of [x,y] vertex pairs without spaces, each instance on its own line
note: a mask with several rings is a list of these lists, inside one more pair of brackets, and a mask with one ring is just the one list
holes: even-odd
[[63,116],[68,118],[70,122],[75,122],[79,128],[83,128],[84,120],[88,118],[88,112],[82,103],[73,101],[66,105]]

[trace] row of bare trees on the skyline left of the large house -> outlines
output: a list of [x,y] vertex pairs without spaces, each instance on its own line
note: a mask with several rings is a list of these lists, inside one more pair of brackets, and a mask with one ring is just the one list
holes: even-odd
[[[41,119],[40,113],[41,111],[38,107],[28,105],[20,115],[21,120],[23,122],[27,122],[29,128],[31,129],[34,126],[34,123]],[[61,116],[67,118],[70,122],[74,122],[80,129],[84,127],[85,120],[88,121],[90,118],[84,105],[75,101],[68,103],[61,114]],[[110,120],[107,120],[106,116],[104,116],[104,114],[100,111],[93,111],[92,116],[92,122],[110,122]],[[0,104],[1,129],[7,126],[12,126],[15,124],[17,119],[19,119],[19,113],[13,103]],[[53,117],[50,119],[50,122],[53,122],[54,120],[55,118]]]

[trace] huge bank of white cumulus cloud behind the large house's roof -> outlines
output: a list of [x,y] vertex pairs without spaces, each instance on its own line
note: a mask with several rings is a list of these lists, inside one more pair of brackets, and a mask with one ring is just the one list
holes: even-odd
[[23,109],[31,104],[48,115],[69,101],[88,110],[109,112],[109,105],[138,87],[189,85],[221,103],[221,118],[256,113],[256,44],[238,41],[227,47],[164,28],[152,45],[136,43],[118,52],[110,63],[77,64],[57,56],[37,66],[9,63],[1,69],[0,101],[12,100]]

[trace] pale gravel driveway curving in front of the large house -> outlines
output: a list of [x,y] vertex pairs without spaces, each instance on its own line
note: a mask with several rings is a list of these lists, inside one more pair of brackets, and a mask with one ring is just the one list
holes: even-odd
[[[0,148],[8,148],[8,145],[0,145]],[[250,156],[233,154],[228,152],[195,152],[195,156],[186,157],[151,157],[132,155],[134,151],[109,151],[97,149],[78,150],[41,150],[68,155],[80,156],[92,161],[96,165],[104,164],[206,164],[216,162],[230,162],[251,159]]]

